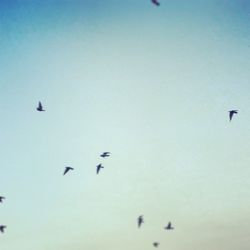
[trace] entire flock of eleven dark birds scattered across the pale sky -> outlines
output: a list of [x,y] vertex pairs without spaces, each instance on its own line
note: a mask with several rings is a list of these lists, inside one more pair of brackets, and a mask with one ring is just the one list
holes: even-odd
[[[156,5],[156,6],[160,6],[160,2],[157,1],[157,0],[151,0],[151,2],[152,2],[154,5]],[[38,103],[38,107],[36,108],[36,110],[39,111],[39,112],[44,112],[44,111],[45,111],[45,109],[44,109],[44,107],[43,107],[43,105],[42,105],[41,102]],[[229,121],[232,120],[232,118],[233,118],[233,116],[234,116],[235,114],[238,114],[238,110],[230,110],[230,111],[228,111],[228,112],[229,112]],[[103,152],[100,156],[103,157],[103,158],[109,157],[109,156],[110,156],[110,152]],[[96,174],[99,174],[99,172],[100,172],[100,170],[101,170],[102,168],[104,168],[104,166],[103,166],[101,163],[98,164],[98,165],[96,166]],[[65,170],[64,170],[64,172],[63,172],[63,175],[66,175],[69,171],[72,171],[72,170],[74,170],[74,168],[72,168],[72,167],[70,167],[70,166],[66,166],[66,167],[65,167]],[[0,196],[0,203],[2,203],[4,199],[5,199],[5,197]],[[141,225],[142,225],[142,223],[144,223],[143,215],[140,215],[140,216],[138,217],[137,223],[138,223],[138,228],[140,228]],[[6,225],[0,225],[0,232],[1,232],[1,233],[4,233],[6,227],[7,227]],[[164,229],[165,229],[165,230],[173,230],[174,227],[172,226],[172,223],[169,222],[168,225],[164,227]],[[156,242],[153,242],[153,246],[154,246],[154,247],[158,247],[159,245],[160,245],[159,242],[157,242],[157,241],[156,241]]]

